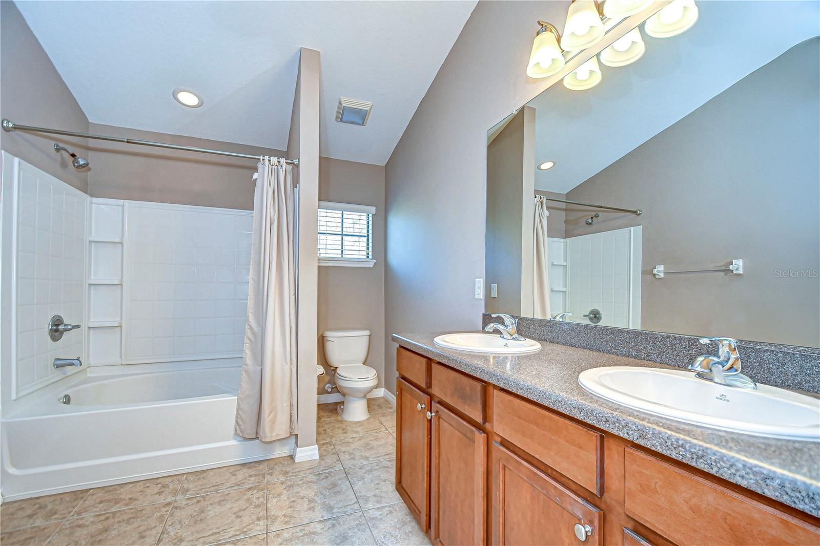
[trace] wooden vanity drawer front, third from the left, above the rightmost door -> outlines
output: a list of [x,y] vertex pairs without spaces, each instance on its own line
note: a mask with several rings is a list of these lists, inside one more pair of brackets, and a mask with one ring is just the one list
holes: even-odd
[[604,435],[499,390],[493,395],[493,428],[581,487],[604,493]]

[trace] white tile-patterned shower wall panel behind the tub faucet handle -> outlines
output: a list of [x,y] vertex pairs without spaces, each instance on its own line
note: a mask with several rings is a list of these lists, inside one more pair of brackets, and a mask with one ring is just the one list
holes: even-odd
[[[62,315],[85,326],[85,230],[89,197],[18,161],[16,169],[15,398],[78,368],[56,370],[56,357],[84,357],[84,330],[53,342],[48,321]],[[6,208],[6,211],[8,209]],[[5,256],[4,256],[5,259]]]

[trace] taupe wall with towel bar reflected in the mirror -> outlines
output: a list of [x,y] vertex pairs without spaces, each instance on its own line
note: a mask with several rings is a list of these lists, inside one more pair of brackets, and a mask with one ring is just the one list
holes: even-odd
[[642,329],[820,346],[820,279],[775,273],[820,269],[818,67],[795,46],[567,194],[643,209],[567,212],[567,237],[643,225]]

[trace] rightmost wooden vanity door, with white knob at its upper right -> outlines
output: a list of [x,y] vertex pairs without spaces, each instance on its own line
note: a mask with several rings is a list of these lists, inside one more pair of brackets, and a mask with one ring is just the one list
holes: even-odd
[[492,450],[493,544],[604,544],[604,512],[501,445]]

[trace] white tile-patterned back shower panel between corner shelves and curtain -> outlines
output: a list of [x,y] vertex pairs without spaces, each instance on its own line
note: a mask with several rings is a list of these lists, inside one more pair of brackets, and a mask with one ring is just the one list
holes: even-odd
[[241,356],[252,216],[125,202],[123,362]]

